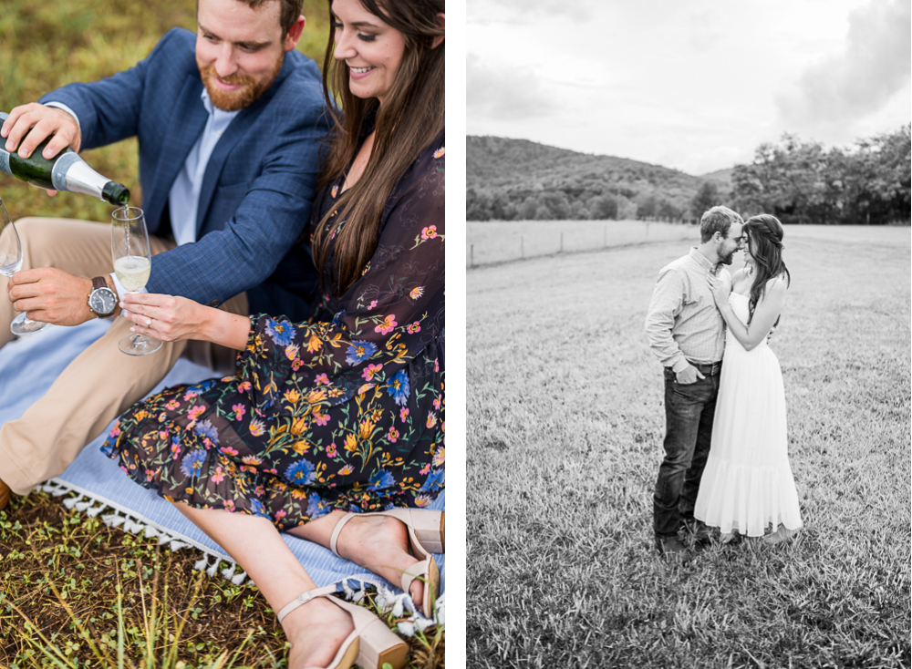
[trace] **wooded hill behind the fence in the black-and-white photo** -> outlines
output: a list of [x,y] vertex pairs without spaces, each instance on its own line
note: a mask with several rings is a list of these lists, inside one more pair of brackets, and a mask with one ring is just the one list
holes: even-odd
[[469,221],[686,216],[706,180],[731,188],[731,170],[694,177],[646,162],[595,156],[527,139],[466,138]]

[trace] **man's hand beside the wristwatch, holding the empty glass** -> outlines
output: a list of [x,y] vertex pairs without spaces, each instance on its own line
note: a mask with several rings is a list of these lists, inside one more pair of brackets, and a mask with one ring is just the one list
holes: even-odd
[[16,272],[6,284],[16,311],[33,321],[57,325],[85,323],[95,314],[88,308],[92,280],[53,267]]

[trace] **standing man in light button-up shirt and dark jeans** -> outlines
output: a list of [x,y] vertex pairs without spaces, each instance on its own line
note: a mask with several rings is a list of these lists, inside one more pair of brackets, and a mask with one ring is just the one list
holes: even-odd
[[700,246],[659,271],[649,303],[649,347],[665,367],[665,458],[653,496],[653,530],[656,549],[669,557],[684,557],[687,551],[680,530],[689,532],[695,544],[709,539],[693,509],[710,455],[725,322],[706,277],[712,274],[731,285],[723,265],[731,265],[744,243],[743,222],[728,207],[706,211],[700,218]]

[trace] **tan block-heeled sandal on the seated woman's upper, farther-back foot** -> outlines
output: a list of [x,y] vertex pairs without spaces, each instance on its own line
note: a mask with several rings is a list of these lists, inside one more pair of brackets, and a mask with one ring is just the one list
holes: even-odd
[[[432,604],[434,597],[440,593],[440,570],[437,561],[431,553],[445,552],[446,542],[444,536],[444,511],[429,509],[389,509],[386,511],[372,511],[370,513],[347,513],[338,521],[333,536],[329,540],[331,551],[336,550],[339,533],[345,524],[355,516],[389,516],[399,520],[409,529],[409,549],[418,562],[411,565],[402,573],[400,585],[403,592],[409,592],[412,582],[420,579],[424,583],[424,596],[421,598],[421,612],[428,618],[433,614]],[[340,556],[341,557],[341,556]]]

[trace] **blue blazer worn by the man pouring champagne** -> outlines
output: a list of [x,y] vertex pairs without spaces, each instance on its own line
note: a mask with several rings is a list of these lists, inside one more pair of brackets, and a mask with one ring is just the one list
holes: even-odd
[[[82,149],[139,139],[150,234],[171,232],[164,215],[168,193],[206,124],[195,41],[192,32],[174,28],[125,72],[68,84],[39,100],[62,102],[76,112]],[[233,118],[212,151],[200,192],[197,242],[152,259],[149,292],[217,305],[247,291],[251,313],[303,320],[317,276],[313,262],[293,246],[316,195],[327,120],[316,63],[287,52],[272,86]]]

